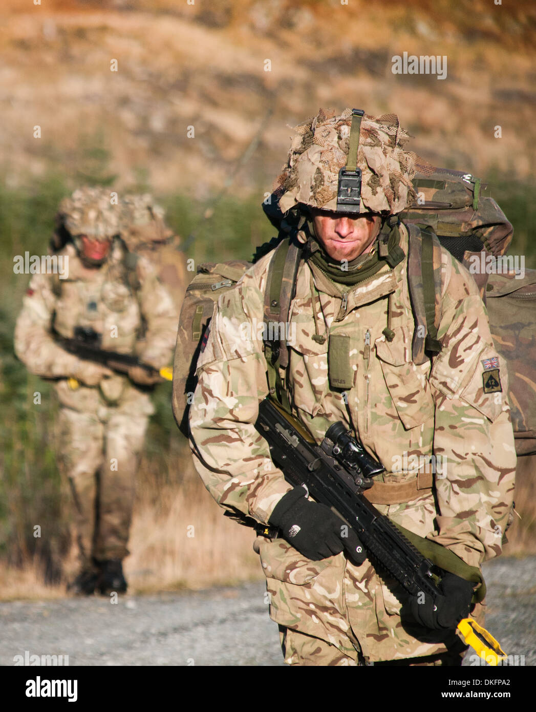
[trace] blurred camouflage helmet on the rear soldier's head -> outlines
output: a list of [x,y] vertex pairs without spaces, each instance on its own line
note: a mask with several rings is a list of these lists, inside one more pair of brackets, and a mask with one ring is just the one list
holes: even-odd
[[61,201],[58,221],[75,244],[79,235],[106,240],[120,233],[120,206],[110,202],[110,189],[83,187]]

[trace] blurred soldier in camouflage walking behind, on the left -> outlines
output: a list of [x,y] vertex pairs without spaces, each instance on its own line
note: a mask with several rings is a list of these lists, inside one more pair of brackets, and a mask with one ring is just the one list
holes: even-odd
[[76,328],[91,328],[103,350],[135,354],[156,369],[169,364],[177,335],[177,310],[151,263],[118,237],[121,216],[105,189],[79,189],[61,202],[56,246],[68,257],[67,278],[31,278],[15,331],[28,370],[56,380],[58,464],[73,492],[80,551],[71,587],[88,595],[127,588],[135,473],[154,412],[149,393],[161,379],[140,366],[119,374],[82,360],[54,334],[73,338]]

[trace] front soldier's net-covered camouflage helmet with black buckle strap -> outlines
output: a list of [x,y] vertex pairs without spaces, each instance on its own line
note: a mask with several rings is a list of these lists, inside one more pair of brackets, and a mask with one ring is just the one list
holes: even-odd
[[396,214],[414,198],[415,154],[394,114],[320,112],[295,127],[276,192],[285,213],[300,204],[347,214]]

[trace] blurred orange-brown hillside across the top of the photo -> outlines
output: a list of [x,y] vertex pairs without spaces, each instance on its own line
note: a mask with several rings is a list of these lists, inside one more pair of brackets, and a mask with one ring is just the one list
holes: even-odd
[[[196,199],[236,171],[236,189],[261,195],[289,126],[349,105],[398,113],[411,147],[433,162],[530,174],[533,7],[344,1],[4,0],[6,181],[56,169],[73,183],[115,175]],[[446,56],[446,78],[394,74],[404,52]]]

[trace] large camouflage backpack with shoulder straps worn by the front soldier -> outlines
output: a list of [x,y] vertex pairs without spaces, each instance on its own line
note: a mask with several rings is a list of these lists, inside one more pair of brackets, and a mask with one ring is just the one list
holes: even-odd
[[[458,261],[471,266],[471,258],[481,259],[481,253],[486,258],[502,256],[512,240],[513,227],[493,199],[480,197],[480,181],[469,174],[426,164],[424,171],[416,175],[414,185],[416,202],[401,214],[401,219],[409,230],[408,278],[416,323],[413,357],[416,363],[423,363],[440,348],[436,334],[441,302],[436,295],[441,290],[441,245]],[[424,204],[419,203],[422,192]],[[303,221],[292,210],[283,216],[276,193],[263,203],[263,209],[278,229],[278,237],[258,248],[252,262],[199,266],[196,277],[186,288],[177,333],[172,397],[174,417],[185,436],[188,436],[189,404],[196,388],[196,362],[208,335],[214,304],[259,257],[273,249],[276,254],[268,272],[264,318],[268,324],[288,320],[300,259],[295,235]],[[531,397],[524,382],[524,379],[532,382],[532,388],[536,389],[536,365],[531,356],[536,352],[536,270],[527,270],[523,280],[514,276],[483,273],[475,281],[484,302],[486,295],[491,297],[488,310],[491,333],[499,354],[508,362],[515,448],[521,455],[536,453],[536,397]],[[522,305],[522,318],[519,323],[510,324],[513,305]],[[424,329],[419,330],[419,326]],[[277,333],[277,330],[267,328],[265,332]],[[424,338],[417,337],[419,332],[424,333]],[[265,354],[270,393],[276,394],[283,407],[288,408],[278,376],[278,366],[288,364],[285,341],[265,341]],[[535,372],[532,378],[531,371]]]

